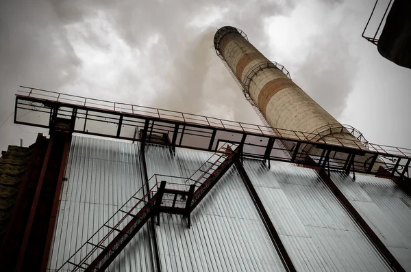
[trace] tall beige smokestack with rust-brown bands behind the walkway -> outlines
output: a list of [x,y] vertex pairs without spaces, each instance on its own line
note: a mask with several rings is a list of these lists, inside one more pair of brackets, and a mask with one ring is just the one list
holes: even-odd
[[[345,126],[292,82],[288,72],[282,72],[282,66],[264,57],[240,29],[226,26],[216,31],[214,47],[273,128],[312,133],[311,141],[336,144],[335,137],[338,137],[345,146],[363,146]],[[294,148],[289,141],[284,145],[288,150]],[[303,148],[309,154],[319,151]],[[338,157],[343,160],[347,156],[339,154]],[[364,167],[367,159],[362,159]]]

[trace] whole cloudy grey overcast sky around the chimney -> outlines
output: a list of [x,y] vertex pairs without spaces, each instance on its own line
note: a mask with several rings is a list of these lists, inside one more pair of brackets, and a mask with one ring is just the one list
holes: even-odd
[[19,85],[259,123],[212,49],[224,25],[338,121],[411,148],[411,70],[361,38],[374,2],[0,0],[0,149],[45,131],[5,121]]

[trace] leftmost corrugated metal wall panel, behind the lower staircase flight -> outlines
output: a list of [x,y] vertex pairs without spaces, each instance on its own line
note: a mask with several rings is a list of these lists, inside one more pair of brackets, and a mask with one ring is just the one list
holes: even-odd
[[[49,271],[58,269],[142,187],[139,146],[73,136],[66,177]],[[148,226],[140,230],[108,271],[151,270],[148,231]]]

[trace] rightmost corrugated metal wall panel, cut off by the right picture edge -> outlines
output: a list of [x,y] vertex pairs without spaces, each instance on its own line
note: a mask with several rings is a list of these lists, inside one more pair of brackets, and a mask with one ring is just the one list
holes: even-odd
[[411,271],[411,198],[391,180],[332,173],[332,180],[402,267]]

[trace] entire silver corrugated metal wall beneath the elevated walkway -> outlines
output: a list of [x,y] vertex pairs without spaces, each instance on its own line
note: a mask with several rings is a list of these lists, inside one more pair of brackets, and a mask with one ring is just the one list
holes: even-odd
[[[142,186],[139,145],[74,136],[49,271],[67,260]],[[190,176],[210,153],[149,145],[147,172]],[[298,271],[389,271],[343,206],[312,169],[245,160],[245,169]],[[411,201],[390,180],[333,174],[403,267],[410,269]],[[178,179],[164,178],[172,182]],[[162,214],[156,227],[162,271],[282,271],[284,267],[235,167],[192,214]],[[151,271],[145,226],[110,271]],[[97,241],[96,241],[97,243]]]

